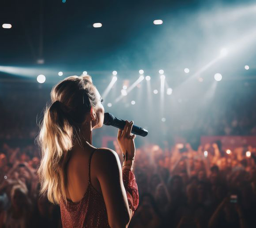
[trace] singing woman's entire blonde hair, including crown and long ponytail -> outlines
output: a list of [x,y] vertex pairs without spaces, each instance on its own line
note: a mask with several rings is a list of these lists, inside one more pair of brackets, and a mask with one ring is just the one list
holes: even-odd
[[52,88],[52,102],[46,105],[44,119],[36,138],[41,151],[41,164],[37,171],[41,183],[40,194],[59,204],[66,199],[66,164],[85,114],[97,104],[91,76],[70,76]]

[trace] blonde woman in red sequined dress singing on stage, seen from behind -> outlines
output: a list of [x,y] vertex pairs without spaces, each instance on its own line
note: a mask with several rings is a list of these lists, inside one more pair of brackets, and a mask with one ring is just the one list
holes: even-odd
[[117,140],[124,154],[92,146],[92,131],[104,121],[100,93],[89,75],[70,76],[51,92],[37,141],[42,158],[41,194],[60,206],[63,227],[128,227],[139,196],[134,173],[133,121]]

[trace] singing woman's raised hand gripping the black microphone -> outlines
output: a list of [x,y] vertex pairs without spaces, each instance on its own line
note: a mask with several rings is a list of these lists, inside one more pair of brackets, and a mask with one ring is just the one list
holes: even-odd
[[136,138],[136,135],[131,134],[133,125],[134,121],[129,122],[126,120],[124,129],[119,129],[117,134],[117,142],[126,159],[132,159],[135,157],[134,139]]

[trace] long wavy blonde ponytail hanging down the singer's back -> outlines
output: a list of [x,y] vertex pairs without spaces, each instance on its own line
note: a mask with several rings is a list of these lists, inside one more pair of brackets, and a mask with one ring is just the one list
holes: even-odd
[[70,125],[67,107],[55,101],[46,108],[45,117],[37,142],[41,147],[41,164],[37,171],[41,183],[40,194],[50,202],[59,204],[61,197],[66,200],[64,165],[72,148],[73,127]]

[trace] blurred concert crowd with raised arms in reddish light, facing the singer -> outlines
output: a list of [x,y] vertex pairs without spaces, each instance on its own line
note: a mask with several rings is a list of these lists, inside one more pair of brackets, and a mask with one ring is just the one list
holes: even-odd
[[[115,151],[122,161],[120,149]],[[250,228],[256,224],[256,148],[213,143],[136,150],[140,203],[130,228]],[[38,195],[36,145],[0,148],[0,227],[61,227],[59,206]]]

